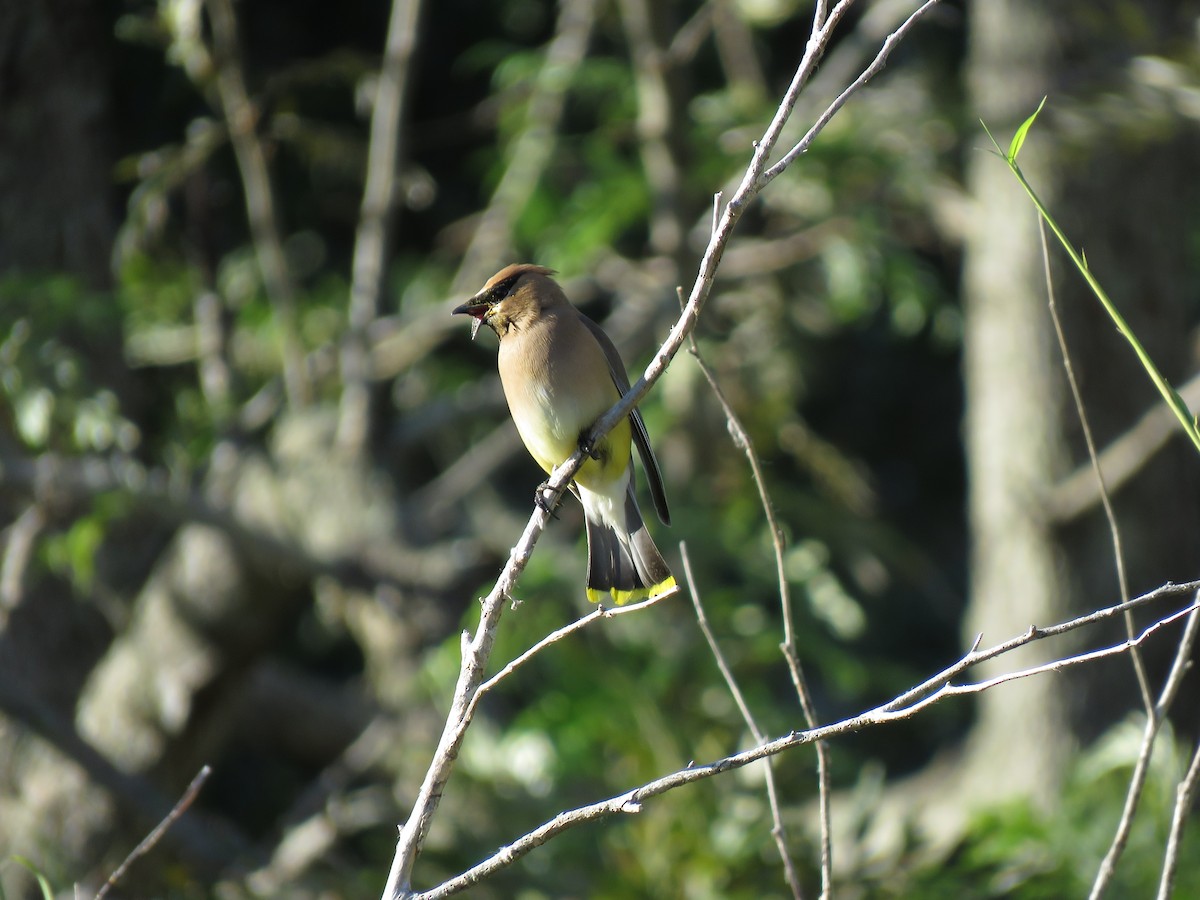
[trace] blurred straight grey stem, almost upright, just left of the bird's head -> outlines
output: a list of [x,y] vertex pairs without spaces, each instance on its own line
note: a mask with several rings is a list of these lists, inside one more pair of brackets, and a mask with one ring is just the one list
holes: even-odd
[[386,274],[388,239],[396,217],[396,178],[402,160],[404,100],[409,65],[416,46],[421,0],[394,0],[371,112],[367,175],[362,186],[354,260],[350,266],[350,306],[341,348],[342,401],[337,444],[348,452],[362,450],[371,432],[371,350],[367,329],[379,314]]

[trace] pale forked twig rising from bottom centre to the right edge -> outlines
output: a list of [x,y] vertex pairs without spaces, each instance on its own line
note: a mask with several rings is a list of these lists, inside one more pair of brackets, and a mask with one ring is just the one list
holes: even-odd
[[[713,778],[715,775],[724,774],[731,769],[742,768],[758,760],[764,760],[769,756],[784,752],[793,746],[800,746],[803,744],[811,744],[817,740],[827,740],[833,737],[841,734],[848,734],[851,732],[862,731],[863,728],[882,725],[884,722],[894,722],[904,719],[911,719],[925,708],[946,700],[949,696],[962,696],[971,694],[979,694],[985,690],[990,690],[997,684],[1006,680],[1012,680],[1013,678],[1027,678],[1031,676],[1043,674],[1051,671],[1061,671],[1063,668],[1069,668],[1076,665],[1082,665],[1091,662],[1094,659],[1102,656],[1110,656],[1118,653],[1128,650],[1132,643],[1140,643],[1150,637],[1152,634],[1158,631],[1166,624],[1177,620],[1181,616],[1186,616],[1195,611],[1196,605],[1189,604],[1181,611],[1172,612],[1164,616],[1158,622],[1147,626],[1133,642],[1126,641],[1115,647],[1109,647],[1103,650],[1079,654],[1064,660],[1057,660],[1052,664],[1045,666],[1036,666],[1031,668],[1022,670],[1019,673],[1013,673],[1012,676],[1003,676],[998,679],[989,679],[986,682],[979,682],[976,684],[966,685],[952,685],[950,679],[953,679],[958,673],[962,672],[978,662],[984,660],[994,659],[1001,654],[1008,653],[1018,647],[1032,643],[1034,641],[1043,640],[1049,636],[1062,635],[1085,625],[1093,624],[1096,622],[1111,618],[1114,616],[1121,614],[1121,612],[1130,606],[1141,606],[1144,604],[1151,602],[1152,600],[1159,599],[1162,596],[1172,595],[1182,592],[1194,593],[1200,589],[1200,583],[1193,582],[1190,584],[1165,584],[1162,588],[1144,594],[1129,604],[1117,604],[1104,610],[1098,610],[1096,612],[1088,613],[1086,616],[1080,616],[1069,622],[1060,623],[1057,625],[1051,625],[1049,628],[1036,628],[1031,626],[1025,634],[1018,635],[1015,637],[1004,641],[1003,643],[990,647],[985,650],[972,649],[965,656],[962,656],[958,662],[948,666],[937,674],[926,679],[922,685],[906,691],[905,694],[893,698],[888,703],[878,706],[859,715],[845,719],[840,722],[834,722],[832,725],[823,725],[817,728],[810,728],[808,731],[793,731],[788,734],[784,734],[774,740],[769,740],[749,750],[743,750],[742,752],[733,754],[731,756],[722,757],[714,762],[702,764],[702,766],[688,766],[684,769],[672,772],[661,778],[648,781],[631,791],[625,791],[624,793],[617,794],[616,797],[610,797],[605,800],[599,800],[596,803],[588,804],[586,806],[580,806],[574,810],[559,812],[552,820],[542,823],[538,828],[522,835],[512,844],[500,847],[496,853],[493,853],[487,859],[472,866],[466,872],[450,878],[442,884],[425,890],[418,894],[412,894],[413,900],[440,900],[440,898],[446,898],[452,894],[464,890],[488,875],[511,865],[514,862],[521,857],[529,853],[532,850],[541,846],[552,838],[569,830],[584,822],[593,822],[600,818],[607,818],[617,814],[636,814],[642,809],[642,802],[652,797],[666,793],[668,791],[682,787],[683,785],[694,784],[707,778]],[[978,642],[977,642],[978,643]],[[928,694],[925,685],[941,686],[940,690],[924,696]],[[919,698],[918,697],[923,697]]]

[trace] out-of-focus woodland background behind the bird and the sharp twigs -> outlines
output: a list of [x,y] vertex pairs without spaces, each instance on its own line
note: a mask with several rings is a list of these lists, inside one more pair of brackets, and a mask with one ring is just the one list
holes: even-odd
[[[782,145],[913,6],[852,8]],[[95,890],[210,764],[122,895],[378,894],[460,632],[542,478],[494,338],[450,310],[506,263],[553,266],[636,377],[810,19],[797,0],[0,11],[0,892],[36,894],[13,854]],[[1025,172],[1195,409],[1194,0],[946,0],[749,210],[701,317],[786,532],[822,721],[977,634],[1121,598],[1034,212],[979,125],[1007,144],[1046,95]],[[1194,452],[1052,257],[1128,589],[1196,578]],[[677,572],[686,542],[761,727],[803,727],[770,534],[686,353],[642,409],[674,518],[655,540]],[[493,666],[587,611],[583,571],[568,502]],[[1124,632],[1075,635],[988,671]],[[1156,691],[1177,641],[1145,646]],[[1183,690],[1117,896],[1157,883],[1198,728]],[[840,895],[1086,894],[1140,708],[1120,658],[835,740]],[[418,887],[750,742],[685,598],[584,630],[484,703]],[[815,893],[811,748],[775,770]],[[472,896],[785,896],[770,828],[762,773],[739,770]],[[1180,895],[1200,895],[1194,829],[1187,848]]]

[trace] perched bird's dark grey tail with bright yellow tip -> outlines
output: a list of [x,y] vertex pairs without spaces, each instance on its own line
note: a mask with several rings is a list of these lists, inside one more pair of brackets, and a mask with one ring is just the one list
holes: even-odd
[[625,493],[624,527],[588,512],[588,600],[599,604],[611,596],[617,606],[624,606],[658,596],[676,586],[670,566],[642,521],[632,479]]

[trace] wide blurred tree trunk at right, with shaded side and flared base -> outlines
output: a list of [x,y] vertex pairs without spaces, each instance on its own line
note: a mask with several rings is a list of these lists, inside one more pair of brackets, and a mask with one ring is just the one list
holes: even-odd
[[[1002,146],[1050,95],[1021,168],[1177,384],[1194,368],[1183,336],[1195,326],[1196,274],[1187,235],[1200,186],[1188,172],[1200,136],[1194,121],[1147,96],[1135,60],[1169,54],[1198,6],[1144,5],[1134,40],[1112,10],[1085,16],[1080,6],[1051,12],[1036,0],[978,0],[971,6],[966,60],[972,115]],[[1056,104],[1055,85],[1062,83],[1090,90]],[[1118,138],[1123,146],[1116,146]],[[1048,503],[1072,468],[1090,463],[1048,310],[1037,214],[984,145],[985,139],[967,138],[962,302],[971,583],[962,631],[965,646],[982,635],[986,647],[1032,624],[1116,602],[1121,594],[1099,504],[1068,522],[1056,520]],[[1050,256],[1072,361],[1103,448],[1159,400],[1052,238]],[[1118,523],[1140,524],[1123,535],[1132,593],[1196,576],[1196,480],[1190,448],[1176,440],[1114,497]],[[1079,640],[1104,646],[1124,637],[1120,623],[1109,629]],[[1166,665],[1153,653],[1172,653],[1169,644],[1150,648],[1152,690]],[[1069,652],[1062,641],[1033,646],[972,674],[986,678]],[[1187,703],[1177,706],[1194,719]],[[916,818],[935,847],[947,846],[982,806],[1019,798],[1052,804],[1076,745],[1140,707],[1123,658],[984,692],[961,746],[888,792],[871,842],[900,846],[902,823]]]

